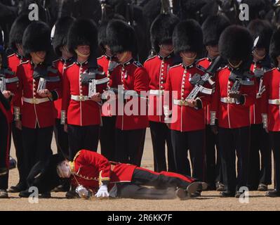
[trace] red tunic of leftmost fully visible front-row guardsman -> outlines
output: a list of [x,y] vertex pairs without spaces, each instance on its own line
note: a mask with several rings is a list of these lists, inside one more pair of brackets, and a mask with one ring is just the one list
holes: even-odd
[[[40,65],[38,65],[40,66]],[[38,89],[39,79],[33,79],[34,65],[27,60],[18,66],[17,76],[20,79],[18,87],[18,96],[23,98],[42,98],[36,91]],[[58,77],[59,75],[48,72],[48,77]],[[56,91],[58,98],[61,96],[61,77],[60,82],[46,82],[46,89]],[[15,107],[20,107],[21,98],[15,101]],[[22,126],[28,128],[51,127],[54,124],[53,102],[46,101],[44,103],[33,104],[23,101],[22,105]]]

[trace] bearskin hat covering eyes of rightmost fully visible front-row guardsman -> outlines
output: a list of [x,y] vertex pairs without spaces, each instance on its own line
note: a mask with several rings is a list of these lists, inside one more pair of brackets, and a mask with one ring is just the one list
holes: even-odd
[[222,32],[219,40],[219,51],[225,60],[246,61],[251,56],[253,38],[245,27],[231,25]]

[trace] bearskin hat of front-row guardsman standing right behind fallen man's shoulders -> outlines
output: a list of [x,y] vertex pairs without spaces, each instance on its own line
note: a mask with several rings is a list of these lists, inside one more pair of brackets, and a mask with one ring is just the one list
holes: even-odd
[[98,29],[90,19],[79,19],[72,23],[67,37],[69,51],[75,54],[75,49],[79,45],[91,47],[91,53],[98,49]]

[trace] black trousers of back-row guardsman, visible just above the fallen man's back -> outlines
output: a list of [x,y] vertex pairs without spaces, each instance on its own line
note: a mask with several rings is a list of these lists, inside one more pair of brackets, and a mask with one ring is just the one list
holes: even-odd
[[115,161],[115,130],[116,116],[102,117],[102,127],[100,127],[101,154],[110,161]]

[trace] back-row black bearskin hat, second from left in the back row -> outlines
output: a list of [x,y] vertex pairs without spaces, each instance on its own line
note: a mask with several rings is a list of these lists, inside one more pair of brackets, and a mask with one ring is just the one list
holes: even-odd
[[61,56],[60,47],[67,44],[67,35],[69,28],[74,22],[74,18],[71,16],[65,16],[60,18],[55,23],[55,33],[53,37],[53,50],[58,56]]

